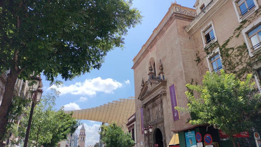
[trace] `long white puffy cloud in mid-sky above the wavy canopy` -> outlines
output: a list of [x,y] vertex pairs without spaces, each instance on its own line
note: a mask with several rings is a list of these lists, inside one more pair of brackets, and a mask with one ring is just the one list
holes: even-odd
[[75,95],[81,94],[88,96],[95,96],[97,92],[104,92],[106,94],[113,93],[114,90],[120,87],[122,87],[122,83],[117,82],[116,80],[113,80],[111,78],[101,79],[101,77],[94,79],[85,79],[84,82],[77,82],[69,86],[50,86],[50,88],[55,88],[60,91],[61,95],[70,93]]

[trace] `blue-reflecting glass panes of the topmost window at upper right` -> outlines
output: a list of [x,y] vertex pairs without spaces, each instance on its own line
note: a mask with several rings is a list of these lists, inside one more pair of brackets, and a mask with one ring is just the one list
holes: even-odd
[[251,10],[253,7],[255,7],[253,0],[239,0],[237,2],[238,8],[240,10],[240,16],[245,15],[249,10]]

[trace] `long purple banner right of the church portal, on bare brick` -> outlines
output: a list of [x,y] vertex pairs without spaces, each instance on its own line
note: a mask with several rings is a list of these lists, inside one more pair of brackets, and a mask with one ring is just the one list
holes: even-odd
[[177,120],[179,120],[179,111],[174,108],[174,107],[178,106],[175,84],[169,86],[169,92],[170,92],[170,98],[171,98],[173,120],[177,121]]

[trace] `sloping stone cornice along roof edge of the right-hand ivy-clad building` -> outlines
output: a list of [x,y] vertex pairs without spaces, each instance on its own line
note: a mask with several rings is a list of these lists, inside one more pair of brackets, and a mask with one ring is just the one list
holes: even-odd
[[220,7],[225,4],[228,0],[212,0],[205,7],[205,9],[198,14],[197,17],[190,23],[185,30],[191,35],[195,33],[209,18],[219,10]]

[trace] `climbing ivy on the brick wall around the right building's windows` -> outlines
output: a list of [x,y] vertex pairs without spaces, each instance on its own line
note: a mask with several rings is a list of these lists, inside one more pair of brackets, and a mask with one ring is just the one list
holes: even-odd
[[203,51],[206,54],[201,54],[200,56],[199,51],[196,51],[195,61],[197,64],[201,64],[201,66],[204,67],[203,59],[205,59],[207,55],[213,53],[216,48],[219,48],[222,64],[224,65],[224,69],[227,73],[234,73],[238,78],[245,77],[246,74],[252,73],[252,63],[258,59],[261,59],[260,53],[255,53],[255,56],[250,58],[245,42],[235,47],[228,47],[228,44],[231,42],[231,40],[233,40],[233,38],[238,38],[241,34],[241,31],[250,23],[252,23],[252,21],[259,15],[261,15],[260,9],[255,11],[252,17],[248,18],[247,20],[243,20],[234,30],[232,36],[223,42],[223,44],[220,44],[218,41],[216,41],[204,48]]

